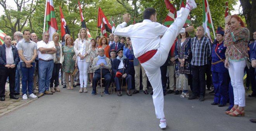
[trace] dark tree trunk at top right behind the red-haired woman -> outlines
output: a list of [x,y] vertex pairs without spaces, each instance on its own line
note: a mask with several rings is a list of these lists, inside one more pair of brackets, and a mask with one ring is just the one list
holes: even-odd
[[256,30],[256,1],[255,0],[240,0],[243,9],[243,15],[246,20],[247,29],[250,30],[250,38],[253,38],[253,32]]

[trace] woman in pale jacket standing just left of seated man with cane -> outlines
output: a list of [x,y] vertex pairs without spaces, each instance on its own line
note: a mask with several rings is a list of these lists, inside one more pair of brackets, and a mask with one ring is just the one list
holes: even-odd
[[90,67],[88,69],[88,73],[89,73],[89,76],[90,76],[90,81],[91,81],[91,84],[90,84],[90,87],[92,87],[92,79],[93,79],[93,69],[92,69],[92,61],[95,57],[98,56],[98,47],[96,46],[96,41],[94,39],[91,39],[91,43],[92,43],[92,52],[91,52],[91,63],[90,63]]

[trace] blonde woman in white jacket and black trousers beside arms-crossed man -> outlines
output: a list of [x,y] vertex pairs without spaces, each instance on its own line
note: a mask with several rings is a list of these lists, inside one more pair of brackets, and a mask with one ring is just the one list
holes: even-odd
[[[59,43],[60,40],[60,35],[55,32],[52,35],[52,41],[55,45],[55,49],[56,49],[56,54],[54,54],[54,67],[53,67],[53,71],[52,71],[52,78],[50,80],[50,91],[51,92],[60,92],[61,90],[58,88],[59,85],[59,71],[61,69],[61,64],[63,61],[63,57],[62,57],[62,45],[61,43]],[[54,88],[53,88],[53,84],[54,84]]]

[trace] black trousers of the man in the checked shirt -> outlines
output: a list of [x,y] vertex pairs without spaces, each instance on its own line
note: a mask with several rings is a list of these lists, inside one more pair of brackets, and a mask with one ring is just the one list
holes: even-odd
[[[200,96],[205,96],[205,72],[207,69],[207,65],[204,66],[193,66],[192,67],[192,85],[193,85],[193,95],[200,95]],[[200,86],[199,85],[200,82]],[[200,93],[199,93],[200,92]]]

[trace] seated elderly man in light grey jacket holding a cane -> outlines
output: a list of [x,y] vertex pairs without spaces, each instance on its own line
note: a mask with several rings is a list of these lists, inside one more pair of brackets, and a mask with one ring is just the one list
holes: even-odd
[[[92,96],[96,95],[96,86],[97,82],[100,80],[100,73],[102,75],[102,78],[105,79],[105,90],[104,93],[105,95],[109,95],[109,85],[111,82],[111,61],[109,58],[107,58],[104,55],[104,48],[99,48],[98,50],[98,56],[93,59],[92,62],[92,69],[94,70],[94,77],[92,80]],[[101,68],[101,72],[100,72]]]

